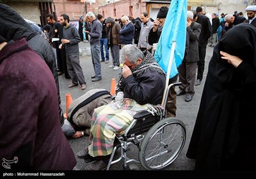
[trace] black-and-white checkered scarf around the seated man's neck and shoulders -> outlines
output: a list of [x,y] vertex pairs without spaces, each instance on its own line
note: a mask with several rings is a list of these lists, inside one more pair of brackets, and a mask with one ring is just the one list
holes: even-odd
[[158,72],[159,74],[165,74],[163,69],[156,63],[156,60],[152,56],[150,52],[143,51],[145,58],[140,63],[140,65],[135,66],[131,69],[132,75],[138,77],[139,75],[146,72],[146,70],[150,70],[151,72]]

